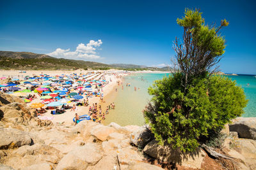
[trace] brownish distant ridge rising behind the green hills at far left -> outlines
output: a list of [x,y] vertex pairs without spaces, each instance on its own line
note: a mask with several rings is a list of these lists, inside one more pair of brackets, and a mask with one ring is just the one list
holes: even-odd
[[31,53],[31,52],[8,52],[0,51],[0,56],[9,57],[13,59],[41,59],[41,58],[54,58],[46,54]]

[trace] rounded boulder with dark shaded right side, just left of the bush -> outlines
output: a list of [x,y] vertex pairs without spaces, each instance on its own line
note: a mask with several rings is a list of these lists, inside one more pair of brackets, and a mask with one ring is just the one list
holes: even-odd
[[137,131],[132,132],[130,136],[131,142],[139,148],[144,148],[153,138],[154,135],[147,127],[140,127]]

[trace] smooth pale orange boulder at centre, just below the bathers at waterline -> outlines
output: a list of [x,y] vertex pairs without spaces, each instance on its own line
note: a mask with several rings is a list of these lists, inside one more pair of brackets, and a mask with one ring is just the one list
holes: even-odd
[[116,132],[116,130],[113,127],[108,127],[104,125],[97,125],[93,127],[91,134],[92,136],[95,136],[100,141],[106,141],[109,134]]

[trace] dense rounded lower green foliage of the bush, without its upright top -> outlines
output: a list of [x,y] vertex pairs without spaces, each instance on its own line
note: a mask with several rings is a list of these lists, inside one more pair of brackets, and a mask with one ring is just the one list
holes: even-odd
[[184,93],[182,74],[154,82],[148,89],[151,103],[145,120],[160,144],[172,144],[182,152],[191,152],[218,133],[232,118],[240,117],[246,106],[243,89],[225,76],[194,78]]

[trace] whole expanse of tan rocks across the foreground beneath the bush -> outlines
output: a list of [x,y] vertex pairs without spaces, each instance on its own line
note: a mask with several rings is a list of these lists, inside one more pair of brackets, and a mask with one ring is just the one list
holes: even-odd
[[0,92],[0,169],[256,169],[256,119],[238,118],[223,132],[223,148],[182,154],[157,145],[147,126],[52,124]]

